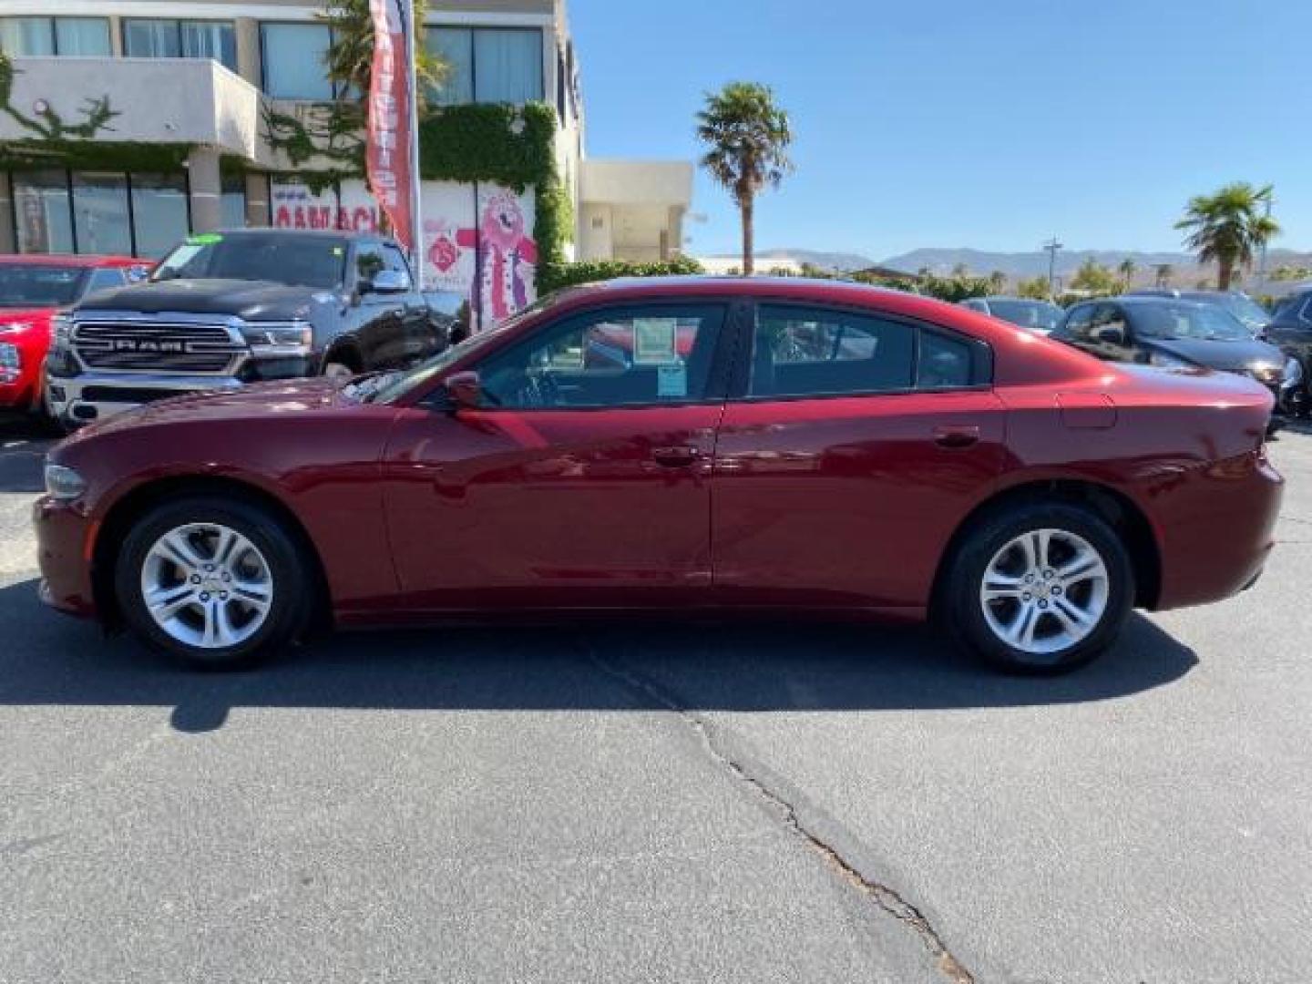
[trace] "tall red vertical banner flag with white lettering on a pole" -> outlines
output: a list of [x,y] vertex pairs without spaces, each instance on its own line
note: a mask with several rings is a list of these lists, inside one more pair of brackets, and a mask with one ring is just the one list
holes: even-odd
[[374,17],[374,68],[369,84],[369,186],[407,252],[415,249],[415,104],[407,62],[404,0],[369,0]]

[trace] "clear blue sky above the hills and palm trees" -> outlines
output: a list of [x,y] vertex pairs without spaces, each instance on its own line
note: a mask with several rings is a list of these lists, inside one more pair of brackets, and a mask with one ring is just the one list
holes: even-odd
[[[593,156],[693,159],[707,89],[771,85],[798,172],[758,245],[1177,249],[1190,195],[1274,182],[1312,249],[1312,0],[569,0]],[[694,253],[733,252],[698,174]]]

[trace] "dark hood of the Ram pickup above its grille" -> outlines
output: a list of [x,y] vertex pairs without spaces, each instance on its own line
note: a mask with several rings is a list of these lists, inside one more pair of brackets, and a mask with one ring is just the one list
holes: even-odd
[[303,318],[325,291],[273,281],[177,279],[136,283],[83,300],[75,311],[236,315],[249,321]]

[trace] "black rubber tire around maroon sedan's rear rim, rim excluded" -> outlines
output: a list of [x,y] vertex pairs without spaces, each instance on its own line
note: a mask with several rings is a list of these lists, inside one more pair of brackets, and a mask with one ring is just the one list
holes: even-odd
[[[1107,597],[1097,625],[1084,639],[1054,653],[1030,653],[1001,639],[989,626],[980,600],[984,575],[994,555],[1031,530],[1061,530],[1082,538],[1107,571]],[[1081,505],[1031,502],[985,514],[966,531],[942,584],[939,615],[959,646],[992,666],[1008,673],[1050,676],[1084,666],[1107,649],[1130,617],[1134,598],[1130,554],[1102,517]]]

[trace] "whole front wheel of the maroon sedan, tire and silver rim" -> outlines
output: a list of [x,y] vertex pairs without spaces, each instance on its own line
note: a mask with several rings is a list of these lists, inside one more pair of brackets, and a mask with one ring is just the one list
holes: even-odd
[[312,583],[295,541],[257,505],[209,497],[156,506],[131,527],[115,569],[127,623],[190,665],[251,665],[293,642]]

